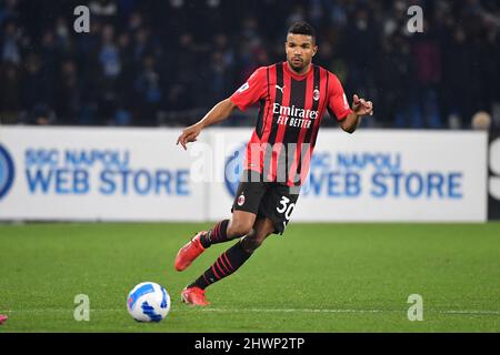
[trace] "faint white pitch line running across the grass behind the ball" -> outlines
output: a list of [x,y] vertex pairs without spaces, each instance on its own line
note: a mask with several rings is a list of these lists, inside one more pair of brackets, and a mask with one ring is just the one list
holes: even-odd
[[[73,313],[74,310],[58,310],[58,308],[47,308],[47,310],[8,310],[0,311],[2,313]],[[100,312],[127,312],[127,308],[120,310],[90,310],[91,313]],[[173,308],[170,312],[220,312],[220,313],[402,313],[404,314],[407,310],[312,310],[312,308],[198,308],[190,306],[184,308]],[[454,315],[492,315],[499,316],[500,311],[489,311],[489,310],[424,310],[426,313],[439,313],[439,314],[454,314]]]

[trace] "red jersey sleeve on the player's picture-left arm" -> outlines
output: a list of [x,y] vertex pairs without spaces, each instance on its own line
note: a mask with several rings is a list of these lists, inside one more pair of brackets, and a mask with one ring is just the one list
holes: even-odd
[[257,69],[244,84],[240,87],[230,98],[241,111],[263,99],[268,93],[268,74],[266,67]]

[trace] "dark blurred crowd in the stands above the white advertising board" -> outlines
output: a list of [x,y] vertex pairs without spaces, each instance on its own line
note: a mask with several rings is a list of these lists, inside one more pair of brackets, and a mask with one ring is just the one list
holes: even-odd
[[[73,29],[79,4],[90,33]],[[413,4],[423,33],[408,31]],[[373,101],[368,126],[498,124],[497,0],[1,0],[0,123],[190,124],[284,60],[297,20],[317,29],[314,62]]]

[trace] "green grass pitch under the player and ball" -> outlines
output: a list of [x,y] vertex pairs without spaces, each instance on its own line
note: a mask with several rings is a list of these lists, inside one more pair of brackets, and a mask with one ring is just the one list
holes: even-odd
[[[271,236],[233,275],[207,290],[207,308],[180,291],[233,244],[187,271],[177,251],[212,224],[0,224],[2,332],[499,332],[500,224],[299,224]],[[172,306],[136,323],[128,292],[153,281]],[[90,297],[90,321],[73,318]],[[423,321],[408,320],[408,296]]]

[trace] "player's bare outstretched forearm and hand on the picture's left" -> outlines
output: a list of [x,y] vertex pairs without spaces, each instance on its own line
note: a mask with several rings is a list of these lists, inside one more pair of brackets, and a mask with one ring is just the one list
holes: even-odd
[[226,120],[231,115],[234,108],[236,105],[230,99],[222,100],[216,104],[203,119],[184,129],[181,135],[177,139],[177,144],[180,143],[182,148],[187,150],[186,145],[190,142],[196,142],[197,136],[200,135],[202,129]]

